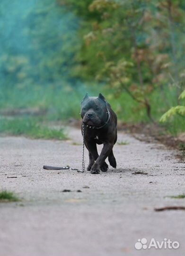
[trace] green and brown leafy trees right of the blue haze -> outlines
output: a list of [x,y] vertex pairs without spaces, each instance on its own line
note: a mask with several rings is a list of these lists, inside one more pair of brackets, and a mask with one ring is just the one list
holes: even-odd
[[[72,4],[76,9],[76,3]],[[92,1],[91,19],[79,34],[84,37],[84,45],[77,55],[75,72],[83,79],[96,77],[108,84],[119,101],[118,96],[128,93],[153,121],[150,95],[160,88],[158,97],[164,98],[168,106],[171,102],[164,88],[174,87],[177,101],[184,83],[184,14],[179,0]]]

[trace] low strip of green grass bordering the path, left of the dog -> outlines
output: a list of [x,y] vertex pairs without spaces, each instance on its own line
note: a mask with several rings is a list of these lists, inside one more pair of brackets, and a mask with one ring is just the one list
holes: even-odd
[[34,118],[13,118],[0,119],[0,133],[7,135],[25,135],[31,138],[42,139],[66,139],[64,130],[59,130],[45,127]]

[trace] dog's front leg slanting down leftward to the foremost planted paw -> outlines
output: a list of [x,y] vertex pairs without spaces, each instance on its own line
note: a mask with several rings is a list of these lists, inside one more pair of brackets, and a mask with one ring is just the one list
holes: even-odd
[[113,149],[114,143],[107,142],[102,148],[101,154],[97,157],[96,162],[91,168],[91,174],[99,174],[102,164],[105,162],[106,157],[110,154]]

